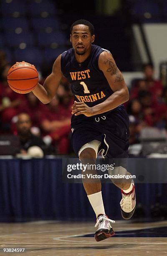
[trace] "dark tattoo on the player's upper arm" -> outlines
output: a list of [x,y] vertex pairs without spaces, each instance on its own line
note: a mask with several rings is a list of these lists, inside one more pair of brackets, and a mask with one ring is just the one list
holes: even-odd
[[108,65],[107,72],[109,72],[111,74],[111,76],[116,75],[116,79],[114,80],[114,83],[121,82],[124,80],[123,75],[121,74],[118,67],[116,67],[116,64],[112,58],[104,61],[104,64]]

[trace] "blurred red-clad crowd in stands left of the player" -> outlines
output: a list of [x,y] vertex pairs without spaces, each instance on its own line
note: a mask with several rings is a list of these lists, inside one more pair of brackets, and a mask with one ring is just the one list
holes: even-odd
[[[68,81],[63,77],[53,100],[44,105],[37,97],[30,92],[28,94],[18,94],[10,89],[7,82],[8,70],[11,67],[4,60],[2,54],[0,61],[0,134],[18,135],[18,117],[28,118],[30,124],[29,133],[23,138],[22,149],[25,149],[27,140],[32,135],[43,138],[48,145],[46,154],[69,154],[71,152],[71,105],[73,96]],[[51,70],[51,69],[50,69]],[[45,80],[41,79],[43,84]],[[26,129],[27,121],[23,122]],[[23,143],[25,141],[25,143]],[[22,151],[23,152],[23,151]],[[25,152],[24,152],[25,153]]]

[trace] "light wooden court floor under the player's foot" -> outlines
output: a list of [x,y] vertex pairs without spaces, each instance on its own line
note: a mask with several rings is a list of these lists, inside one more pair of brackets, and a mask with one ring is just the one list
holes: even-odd
[[[101,242],[96,242],[93,237],[96,230],[94,224],[56,221],[0,223],[0,256],[167,255],[167,237],[158,237],[159,235],[149,237],[147,231],[151,228],[165,230],[164,227],[167,231],[167,221],[150,223],[116,221],[113,224],[116,235]],[[142,233],[146,237],[135,237],[135,233],[143,229]],[[125,237],[125,231],[131,237]],[[3,248],[25,248],[25,251],[4,253]]]

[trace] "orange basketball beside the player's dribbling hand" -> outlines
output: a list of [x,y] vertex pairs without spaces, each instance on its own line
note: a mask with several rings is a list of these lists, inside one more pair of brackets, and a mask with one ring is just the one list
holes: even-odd
[[38,72],[35,66],[22,61],[16,62],[8,71],[8,84],[10,88],[18,93],[33,91],[38,83]]

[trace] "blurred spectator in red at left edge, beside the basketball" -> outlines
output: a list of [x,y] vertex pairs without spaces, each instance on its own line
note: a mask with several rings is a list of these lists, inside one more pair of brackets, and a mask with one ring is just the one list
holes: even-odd
[[10,89],[7,74],[10,65],[6,64],[0,69],[0,112],[5,133],[10,131],[10,120],[17,114],[17,108],[24,96]]

